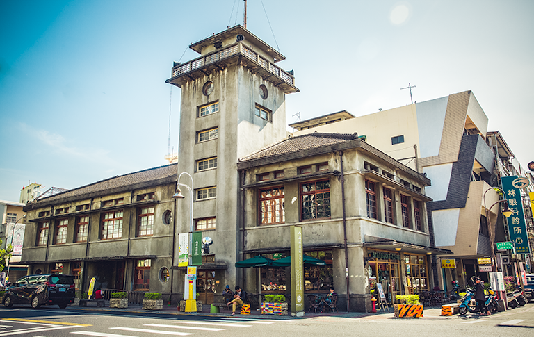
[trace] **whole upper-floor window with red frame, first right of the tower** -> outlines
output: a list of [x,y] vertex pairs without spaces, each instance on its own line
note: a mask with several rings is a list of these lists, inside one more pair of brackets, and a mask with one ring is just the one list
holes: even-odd
[[[277,190],[277,192],[279,193],[273,195],[273,193],[271,192],[270,197],[261,196],[262,192],[266,192],[269,190]],[[270,188],[263,188],[258,190],[258,224],[260,226],[267,226],[270,224],[285,224],[285,200],[286,195],[284,191],[284,186],[273,186]],[[269,213],[271,214],[270,216],[268,215]],[[266,220],[266,222],[264,222],[264,220]],[[269,220],[271,220],[272,222],[268,222]]]

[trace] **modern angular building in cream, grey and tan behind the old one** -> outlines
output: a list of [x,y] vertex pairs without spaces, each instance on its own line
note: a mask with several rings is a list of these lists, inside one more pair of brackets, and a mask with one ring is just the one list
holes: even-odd
[[[436,247],[454,252],[446,258],[456,263],[454,269],[435,270],[436,284],[446,290],[452,279],[465,284],[474,274],[486,277],[478,266],[478,258],[491,254],[485,207],[499,200],[492,187],[499,187],[502,175],[521,172],[510,169],[511,151],[498,142],[501,136],[487,133],[487,122],[469,90],[360,117],[345,115],[334,124],[323,116],[291,126],[298,130],[295,135],[358,132],[373,147],[428,176],[432,238]],[[493,235],[505,228],[499,207],[491,208],[489,217]]]

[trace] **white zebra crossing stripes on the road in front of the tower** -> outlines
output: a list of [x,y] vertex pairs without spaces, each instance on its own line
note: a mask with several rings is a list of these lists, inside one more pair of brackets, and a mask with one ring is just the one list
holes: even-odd
[[172,320],[170,324],[147,323],[143,327],[109,327],[110,332],[89,330],[71,331],[71,334],[94,337],[191,336],[207,331],[220,332],[229,328],[247,328],[253,324],[274,324],[279,320],[254,318],[218,318],[202,320]]

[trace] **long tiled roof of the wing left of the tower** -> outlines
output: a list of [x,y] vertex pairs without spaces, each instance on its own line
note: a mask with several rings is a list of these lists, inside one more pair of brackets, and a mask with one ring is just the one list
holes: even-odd
[[74,188],[72,190],[66,190],[50,197],[44,197],[39,200],[35,200],[33,204],[40,206],[40,204],[56,202],[63,199],[73,199],[76,197],[84,198],[88,195],[94,195],[99,192],[111,193],[113,190],[126,189],[131,186],[135,186],[140,183],[147,183],[149,181],[158,181],[170,176],[177,175],[177,164],[164,165],[159,167],[152,167],[147,170],[124,174],[122,176],[114,176],[113,178],[97,181],[96,183],[90,183],[86,186]]

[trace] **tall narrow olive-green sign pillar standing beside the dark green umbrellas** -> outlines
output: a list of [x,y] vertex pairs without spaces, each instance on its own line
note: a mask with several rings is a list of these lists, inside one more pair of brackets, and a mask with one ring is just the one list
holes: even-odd
[[291,313],[304,312],[302,227],[291,226]]

